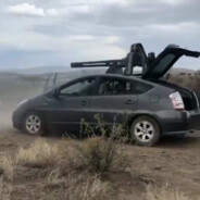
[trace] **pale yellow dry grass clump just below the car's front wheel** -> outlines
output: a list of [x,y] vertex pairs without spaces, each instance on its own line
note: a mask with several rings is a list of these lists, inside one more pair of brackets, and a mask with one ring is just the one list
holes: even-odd
[[38,139],[29,148],[21,148],[16,154],[16,163],[30,167],[48,167],[55,162],[57,146]]

